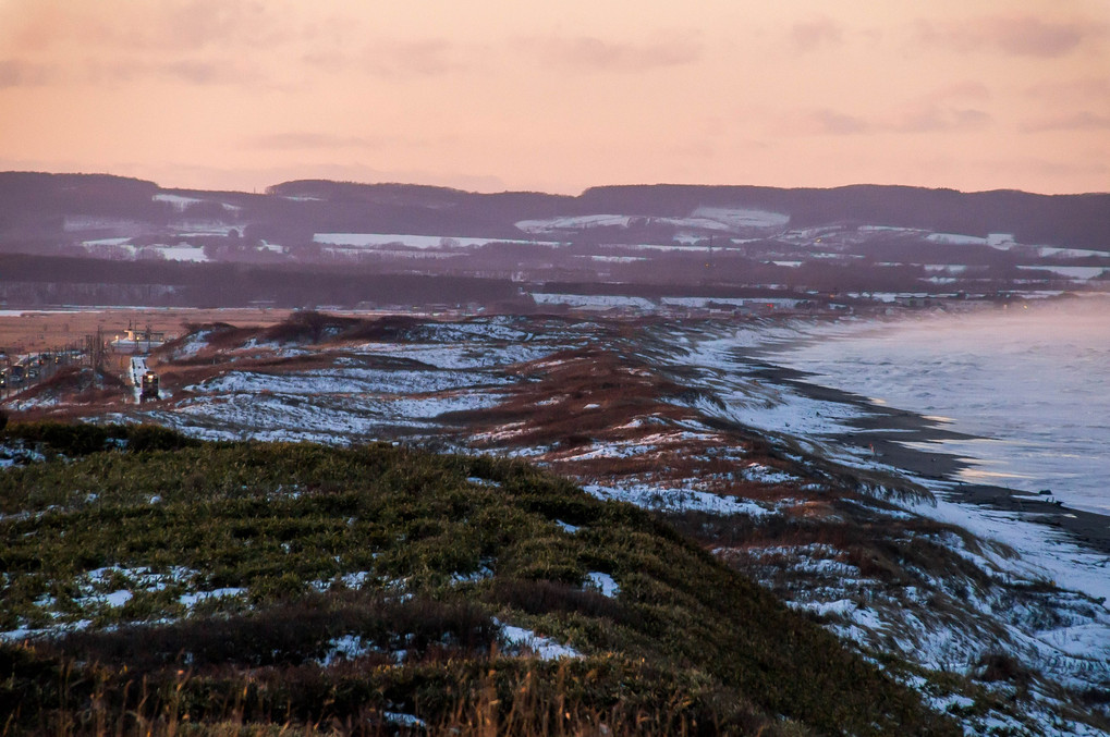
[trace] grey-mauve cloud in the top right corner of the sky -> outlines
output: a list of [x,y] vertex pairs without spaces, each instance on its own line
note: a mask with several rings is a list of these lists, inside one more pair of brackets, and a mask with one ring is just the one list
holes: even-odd
[[1051,23],[1032,16],[993,16],[961,22],[922,20],[918,38],[961,52],[999,51],[1018,57],[1053,58],[1073,51],[1088,38],[1103,36],[1099,23]]

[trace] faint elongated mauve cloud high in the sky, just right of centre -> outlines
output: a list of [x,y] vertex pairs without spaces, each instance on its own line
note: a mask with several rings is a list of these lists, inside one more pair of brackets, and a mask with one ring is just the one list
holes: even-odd
[[680,67],[702,58],[702,43],[688,34],[624,43],[594,37],[528,39],[523,42],[548,62],[594,71],[644,72]]

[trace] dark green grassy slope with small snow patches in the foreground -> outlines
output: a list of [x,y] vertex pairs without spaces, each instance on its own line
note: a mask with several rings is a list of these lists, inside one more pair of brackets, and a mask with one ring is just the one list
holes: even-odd
[[[0,647],[12,729],[374,731],[395,710],[462,734],[955,734],[670,527],[523,463],[9,430],[70,460],[0,474],[0,629],[92,623]],[[131,451],[89,452],[108,435]],[[584,589],[591,572],[619,595]],[[219,588],[245,593],[181,603]],[[502,655],[494,617],[584,657]],[[372,647],[321,667],[345,636]]]

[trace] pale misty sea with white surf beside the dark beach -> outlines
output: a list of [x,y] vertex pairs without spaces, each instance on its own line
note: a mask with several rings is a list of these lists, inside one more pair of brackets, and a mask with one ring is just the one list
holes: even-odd
[[1110,300],[821,327],[770,359],[946,423],[961,475],[1110,514]]

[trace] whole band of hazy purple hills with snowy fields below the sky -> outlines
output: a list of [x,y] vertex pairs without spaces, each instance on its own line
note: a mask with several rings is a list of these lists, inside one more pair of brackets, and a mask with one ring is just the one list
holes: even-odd
[[[72,285],[91,283],[91,259],[142,262],[101,275],[101,284],[151,287],[95,295],[117,303],[490,304],[598,291],[645,299],[831,292],[850,302],[875,292],[1102,290],[1107,213],[1106,193],[658,184],[567,196],[301,180],[259,194],[8,172],[0,174],[0,289],[11,302],[88,303],[98,290]],[[234,277],[246,287],[230,297],[195,287],[228,273],[214,263],[252,264],[250,279]],[[280,286],[290,269],[304,273],[306,265],[327,289]],[[43,270],[46,281],[36,275]],[[352,275],[396,274],[465,284],[440,299],[433,287],[410,285],[397,295],[343,286]],[[54,286],[43,291],[43,283]]]

